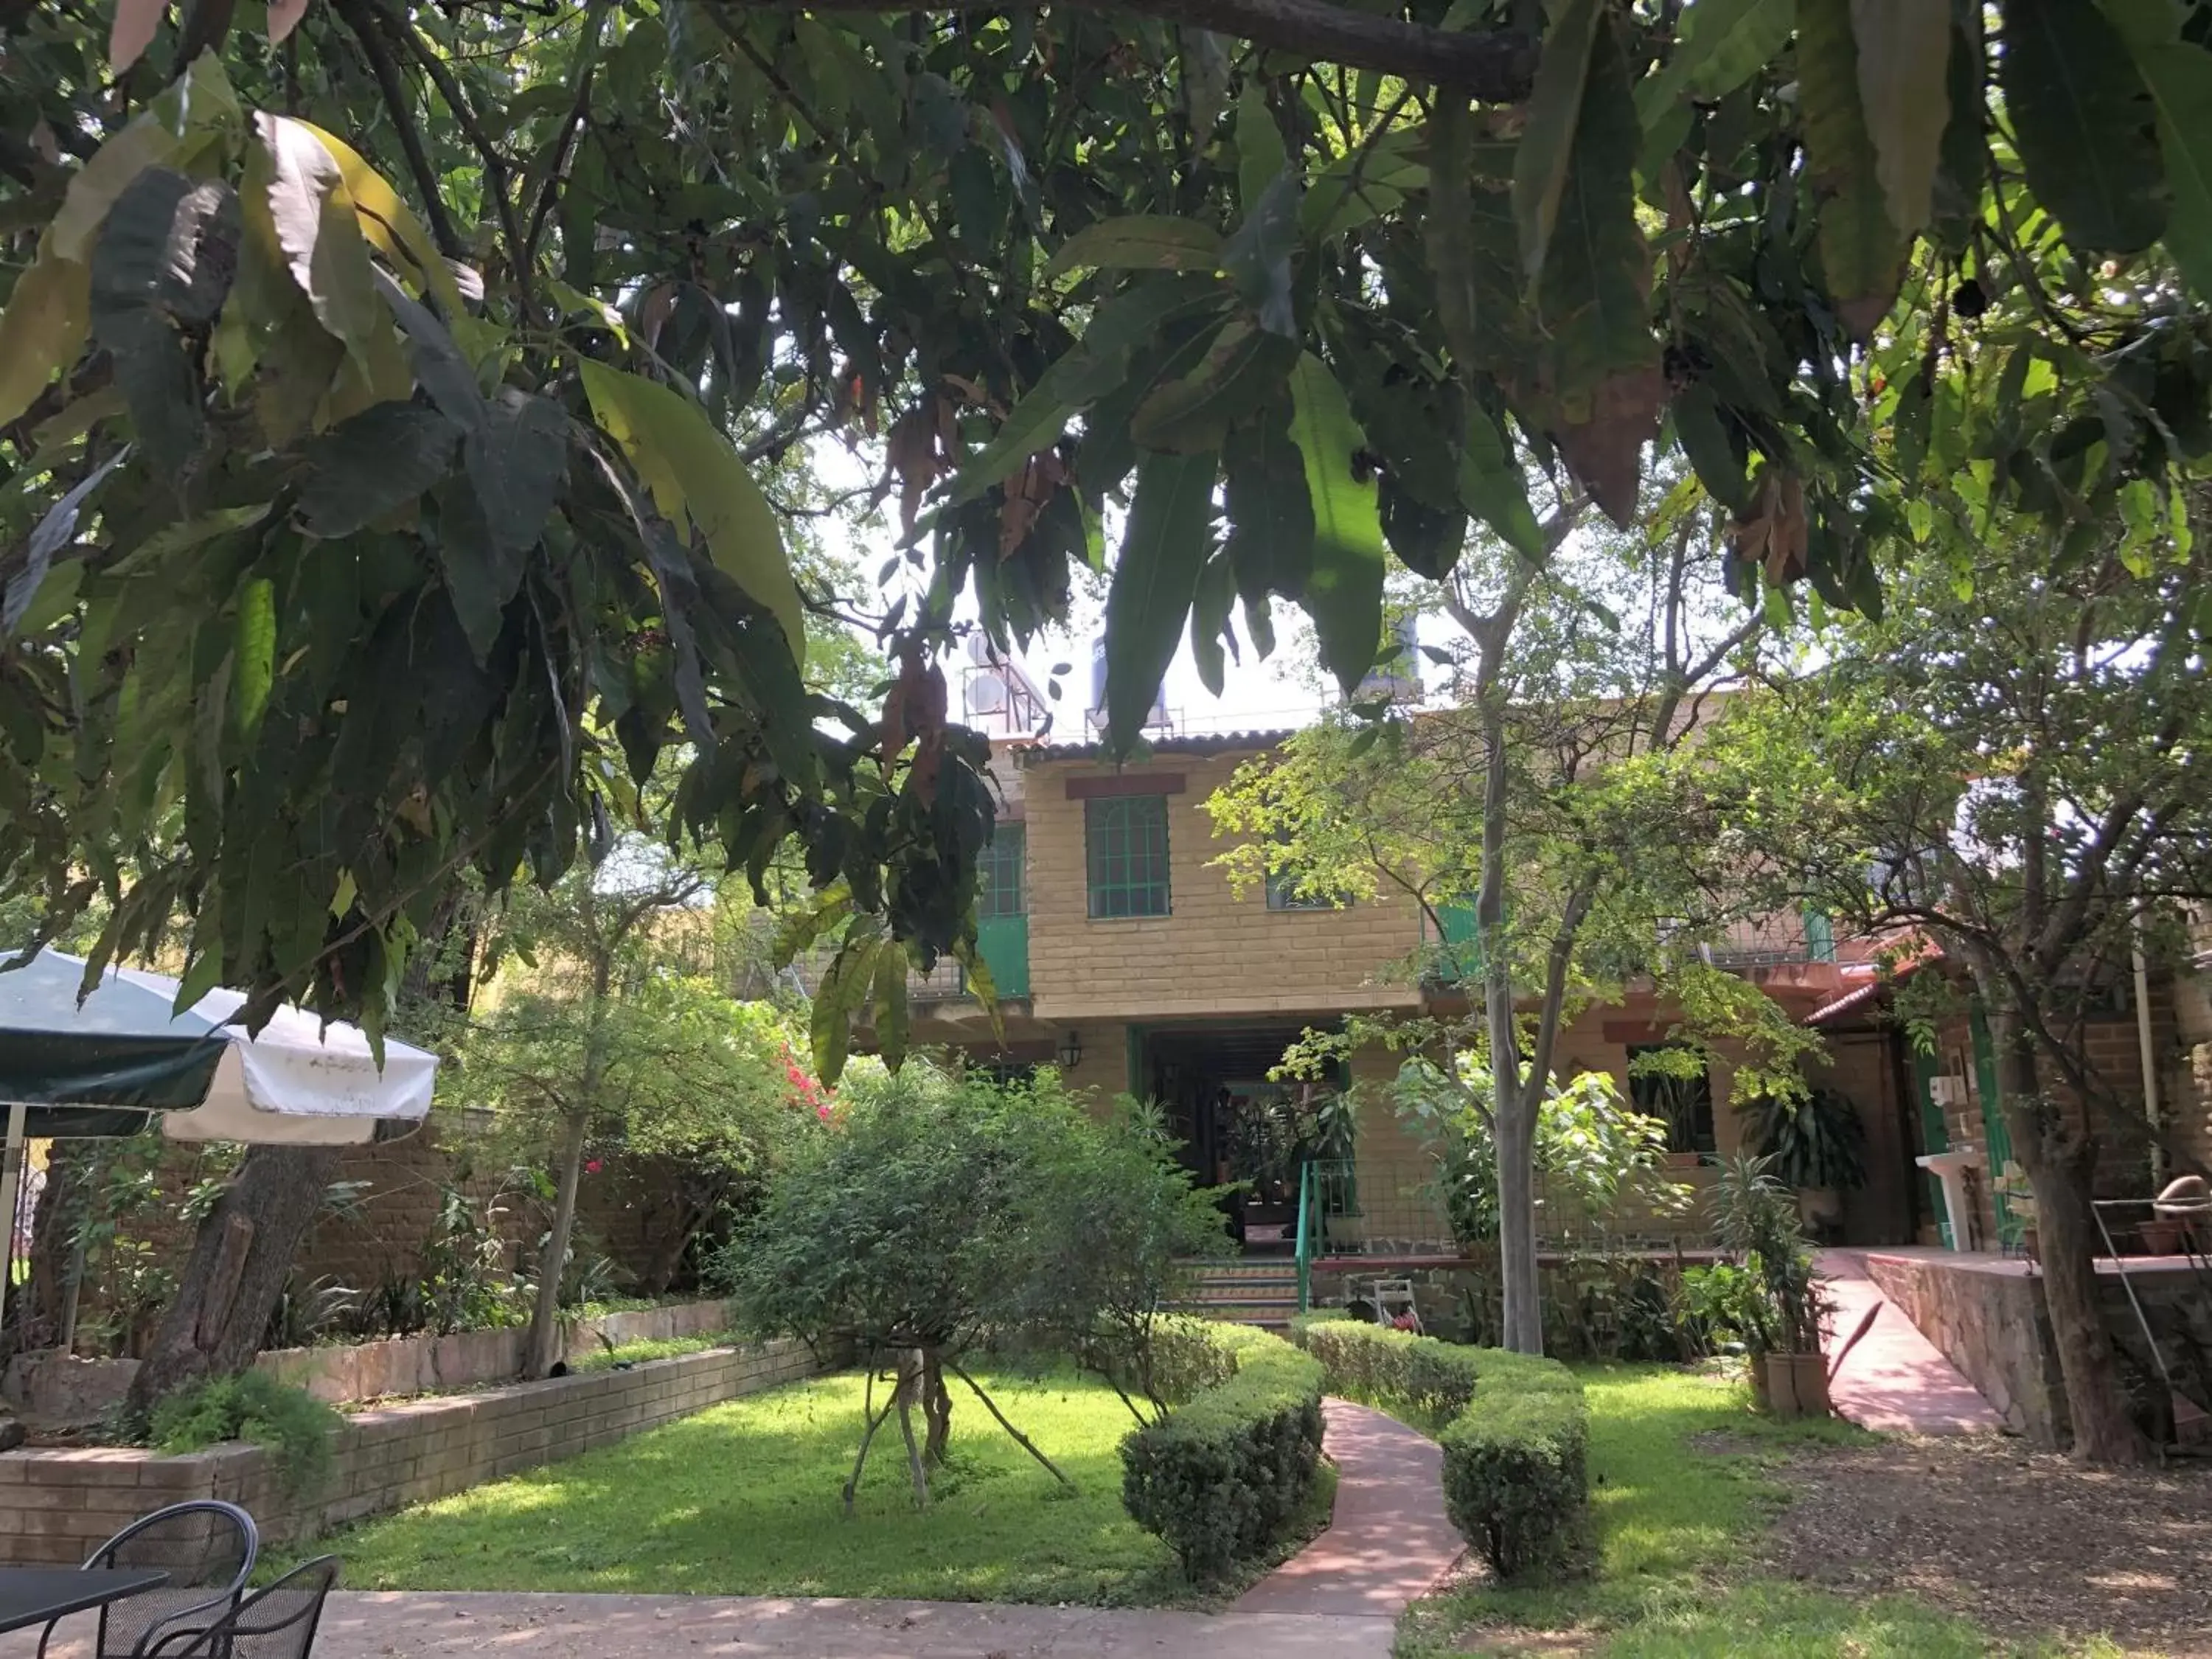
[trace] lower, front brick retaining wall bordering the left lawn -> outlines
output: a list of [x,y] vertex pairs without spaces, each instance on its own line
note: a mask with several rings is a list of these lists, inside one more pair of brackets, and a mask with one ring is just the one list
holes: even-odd
[[265,1544],[294,1544],[821,1369],[803,1345],[768,1343],[358,1411],[338,1431],[330,1480],[305,1502],[281,1493],[261,1447],[226,1444],[181,1458],[126,1447],[7,1451],[0,1564],[82,1562],[126,1522],[188,1498],[243,1504]]

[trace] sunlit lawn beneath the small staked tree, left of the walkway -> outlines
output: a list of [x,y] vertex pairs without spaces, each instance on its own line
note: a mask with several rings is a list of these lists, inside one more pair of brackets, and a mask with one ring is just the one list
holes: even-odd
[[[1110,1389],[1075,1376],[982,1383],[1066,1471],[1073,1495],[958,1389],[931,1511],[914,1509],[894,1422],[876,1438],[847,1520],[838,1491],[860,1436],[863,1383],[834,1376],[405,1509],[316,1548],[345,1555],[345,1582],[374,1590],[1203,1599],[1168,1548],[1121,1513],[1117,1447],[1133,1422]],[[1307,1535],[1325,1517],[1323,1495]]]

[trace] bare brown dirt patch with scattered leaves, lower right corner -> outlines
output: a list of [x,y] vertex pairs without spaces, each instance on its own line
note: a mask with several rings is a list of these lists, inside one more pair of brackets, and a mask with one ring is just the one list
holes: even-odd
[[2212,1462],[2108,1473],[2020,1440],[1885,1440],[1774,1471],[1774,1571],[1900,1593],[1993,1635],[2212,1659]]

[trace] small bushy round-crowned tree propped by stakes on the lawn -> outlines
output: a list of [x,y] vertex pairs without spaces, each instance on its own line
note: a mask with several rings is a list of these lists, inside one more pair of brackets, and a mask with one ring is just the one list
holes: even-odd
[[967,1369],[984,1343],[1057,1347],[1117,1374],[1137,1354],[1128,1369],[1157,1398],[1148,1340],[1175,1259],[1212,1228],[1206,1210],[1152,1128],[1093,1119],[1053,1073],[995,1084],[929,1062],[856,1068],[827,1130],[728,1248],[726,1274],[754,1332],[858,1345],[869,1394],[845,1509],[894,1411],[927,1506],[951,1433],[947,1378],[1066,1484]]

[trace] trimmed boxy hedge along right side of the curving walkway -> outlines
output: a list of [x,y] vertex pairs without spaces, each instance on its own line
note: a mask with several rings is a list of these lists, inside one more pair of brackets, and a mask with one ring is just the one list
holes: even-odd
[[1444,1422],[1444,1509],[1498,1577],[1571,1553],[1590,1506],[1590,1413],[1573,1371],[1354,1321],[1301,1318],[1292,1329],[1332,1391]]

